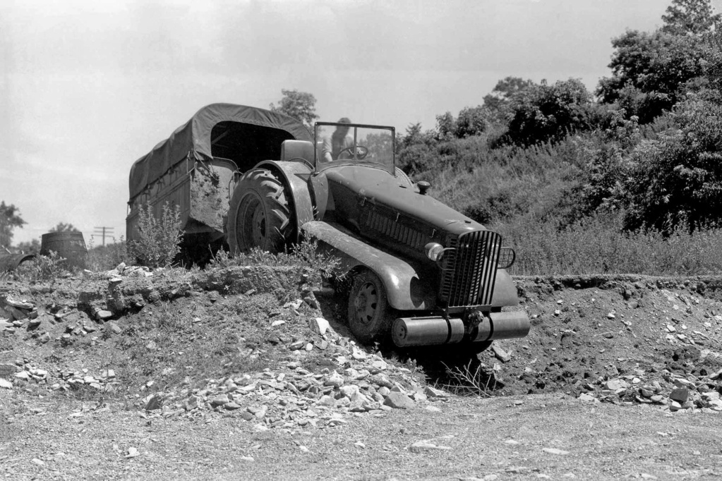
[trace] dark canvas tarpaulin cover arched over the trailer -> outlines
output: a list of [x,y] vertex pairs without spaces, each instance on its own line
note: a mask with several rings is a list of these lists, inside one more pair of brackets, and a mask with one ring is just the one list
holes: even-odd
[[207,105],[149,154],[136,160],[131,167],[130,198],[160,179],[175,164],[183,162],[188,155],[195,160],[212,159],[211,132],[217,123],[227,121],[276,128],[290,133],[296,140],[313,140],[302,123],[278,112],[225,103]]

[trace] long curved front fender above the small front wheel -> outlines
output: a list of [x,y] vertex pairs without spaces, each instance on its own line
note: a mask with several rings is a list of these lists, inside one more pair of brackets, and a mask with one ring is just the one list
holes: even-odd
[[318,239],[321,247],[339,257],[343,268],[352,270],[365,266],[378,275],[386,288],[388,304],[401,311],[431,310],[436,305],[435,286],[425,279],[434,275],[425,273],[417,262],[399,259],[360,239],[335,222],[310,221],[301,226],[306,237]]

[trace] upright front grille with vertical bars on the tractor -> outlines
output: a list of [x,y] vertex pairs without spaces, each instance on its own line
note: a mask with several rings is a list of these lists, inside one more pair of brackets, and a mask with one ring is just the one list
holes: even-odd
[[492,303],[501,236],[474,231],[453,239],[443,258],[440,299],[448,307]]

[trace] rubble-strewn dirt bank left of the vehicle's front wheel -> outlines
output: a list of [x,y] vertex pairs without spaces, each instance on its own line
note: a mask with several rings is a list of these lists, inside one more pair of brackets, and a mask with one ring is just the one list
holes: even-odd
[[444,397],[356,345],[316,294],[329,288],[312,271],[266,266],[9,284],[0,304],[25,311],[2,331],[0,365],[28,394],[125,400],[164,416],[217,410],[269,427]]

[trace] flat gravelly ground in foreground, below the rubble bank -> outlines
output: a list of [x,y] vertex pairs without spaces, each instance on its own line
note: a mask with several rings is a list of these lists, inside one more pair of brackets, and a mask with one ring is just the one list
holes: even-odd
[[[7,392],[3,402],[11,401]],[[0,473],[30,479],[718,479],[718,413],[671,414],[560,394],[426,402],[334,428],[259,430],[43,405],[2,428]],[[430,410],[430,408],[432,410]],[[71,416],[71,417],[69,417]],[[425,441],[422,446],[419,441]],[[415,447],[417,444],[418,447]],[[432,447],[435,446],[435,447]],[[137,456],[128,456],[135,448]]]

